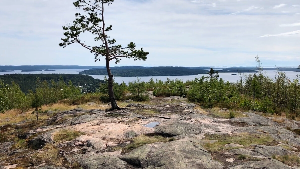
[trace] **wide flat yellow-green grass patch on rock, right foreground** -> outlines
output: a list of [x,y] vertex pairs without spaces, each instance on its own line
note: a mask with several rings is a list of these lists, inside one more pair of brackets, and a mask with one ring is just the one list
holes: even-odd
[[[207,140],[218,140],[215,143],[206,143],[204,148],[209,152],[217,152],[222,149],[232,149],[225,148],[225,144],[235,143],[243,145],[244,147],[249,147],[252,144],[259,145],[270,145],[274,140],[269,135],[258,135],[258,134],[234,134],[234,135],[205,135]],[[236,147],[234,147],[236,148]],[[240,148],[240,147],[239,147]]]

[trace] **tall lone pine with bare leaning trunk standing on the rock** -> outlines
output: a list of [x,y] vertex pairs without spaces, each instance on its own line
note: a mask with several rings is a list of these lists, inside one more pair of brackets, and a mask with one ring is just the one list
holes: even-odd
[[[106,60],[106,69],[108,74],[108,91],[112,109],[120,109],[117,106],[116,98],[113,92],[113,74],[110,71],[110,61],[115,60],[116,64],[122,58],[133,58],[134,60],[146,60],[149,52],[143,51],[143,48],[137,50],[133,42],[126,47],[115,45],[116,40],[110,39],[107,32],[112,30],[112,25],[105,26],[104,22],[104,6],[110,5],[114,0],[77,0],[73,2],[76,8],[82,8],[85,14],[76,13],[76,19],[73,24],[63,26],[65,38],[59,45],[66,47],[67,45],[77,43],[83,48],[86,48],[95,55],[95,61],[101,60],[102,57]],[[79,38],[83,33],[89,33],[95,36],[98,45],[88,45],[85,41]]]

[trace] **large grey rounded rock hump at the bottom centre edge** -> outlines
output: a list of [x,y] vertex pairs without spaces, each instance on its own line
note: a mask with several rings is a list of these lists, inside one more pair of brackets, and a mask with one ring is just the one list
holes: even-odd
[[134,149],[120,157],[129,164],[147,169],[221,169],[197,139],[181,139],[168,143],[157,142]]

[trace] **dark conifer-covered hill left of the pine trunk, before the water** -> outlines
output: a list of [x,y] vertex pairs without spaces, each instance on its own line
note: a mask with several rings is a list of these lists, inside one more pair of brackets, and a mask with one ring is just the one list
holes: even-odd
[[28,90],[35,91],[37,88],[36,81],[47,81],[49,84],[59,81],[62,79],[65,83],[72,81],[72,84],[75,86],[84,86],[88,91],[95,92],[96,88],[99,88],[101,83],[104,83],[104,80],[95,79],[88,75],[78,75],[78,74],[6,74],[0,75],[0,79],[4,83],[12,84],[16,82],[19,84],[21,91],[28,93]]

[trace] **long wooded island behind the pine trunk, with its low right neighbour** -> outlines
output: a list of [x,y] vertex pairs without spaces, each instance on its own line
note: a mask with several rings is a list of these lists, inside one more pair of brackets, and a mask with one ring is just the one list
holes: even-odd
[[[143,67],[143,66],[124,66],[124,67],[111,67],[111,72],[114,76],[119,77],[135,77],[135,76],[183,76],[183,75],[198,75],[206,74],[209,71],[202,67]],[[210,68],[209,68],[210,69]],[[219,70],[223,72],[258,72],[252,69],[241,70]],[[106,68],[94,68],[79,72],[84,75],[107,75]]]

